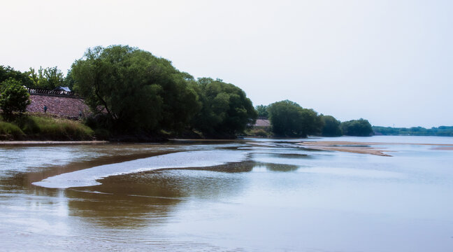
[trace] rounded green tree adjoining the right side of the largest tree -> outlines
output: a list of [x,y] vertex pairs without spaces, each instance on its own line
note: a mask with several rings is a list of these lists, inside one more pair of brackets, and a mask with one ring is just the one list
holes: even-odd
[[257,112],[239,87],[212,78],[199,78],[192,87],[202,104],[192,125],[205,136],[236,137],[256,121]]

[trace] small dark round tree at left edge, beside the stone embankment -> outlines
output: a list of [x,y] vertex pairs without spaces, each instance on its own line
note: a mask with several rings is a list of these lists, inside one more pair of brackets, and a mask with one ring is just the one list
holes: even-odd
[[30,94],[18,80],[10,78],[0,84],[0,109],[6,118],[13,112],[25,112],[30,104]]

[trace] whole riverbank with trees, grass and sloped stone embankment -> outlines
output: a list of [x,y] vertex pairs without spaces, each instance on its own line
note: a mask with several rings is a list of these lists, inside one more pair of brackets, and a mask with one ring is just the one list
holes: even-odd
[[[394,134],[384,127],[373,132],[364,119],[341,123],[288,100],[254,108],[239,87],[195,79],[168,59],[128,45],[89,48],[66,76],[57,67],[21,72],[0,66],[0,109],[3,140]],[[255,126],[258,117],[268,126]]]

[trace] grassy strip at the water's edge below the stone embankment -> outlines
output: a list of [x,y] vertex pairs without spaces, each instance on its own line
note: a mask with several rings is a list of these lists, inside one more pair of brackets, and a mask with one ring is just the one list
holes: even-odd
[[78,120],[24,114],[5,122],[0,118],[0,135],[5,140],[92,140],[94,131]]

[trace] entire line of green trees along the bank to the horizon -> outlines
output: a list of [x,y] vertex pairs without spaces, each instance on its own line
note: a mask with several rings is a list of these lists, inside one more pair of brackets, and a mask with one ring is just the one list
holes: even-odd
[[[259,118],[268,118],[275,137],[371,136],[373,134],[453,136],[453,127],[371,127],[362,118],[340,122],[284,100],[255,108],[245,92],[221,79],[198,78],[175,69],[168,59],[128,45],[89,48],[64,76],[57,67],[16,71],[0,66],[0,109],[8,118],[25,111],[25,87],[67,86],[92,109],[87,125],[113,134],[146,132],[231,138]],[[109,133],[109,134],[110,134]],[[267,133],[261,130],[260,135]]]

